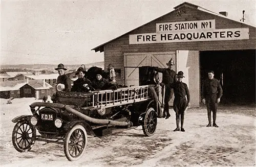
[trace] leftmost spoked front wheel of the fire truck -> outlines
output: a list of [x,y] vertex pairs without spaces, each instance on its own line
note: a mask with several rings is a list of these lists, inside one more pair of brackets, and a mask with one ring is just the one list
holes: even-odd
[[20,121],[12,131],[12,144],[18,152],[32,149],[35,144],[36,129],[27,121]]

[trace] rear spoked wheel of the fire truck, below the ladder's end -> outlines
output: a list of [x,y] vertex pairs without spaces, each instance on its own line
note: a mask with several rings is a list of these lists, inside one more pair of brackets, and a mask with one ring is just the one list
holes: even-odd
[[152,136],[157,127],[157,113],[154,108],[148,108],[143,117],[142,130],[145,136]]

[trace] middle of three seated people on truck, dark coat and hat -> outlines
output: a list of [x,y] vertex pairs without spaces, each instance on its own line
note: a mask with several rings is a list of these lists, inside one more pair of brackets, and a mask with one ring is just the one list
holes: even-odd
[[78,76],[78,79],[74,81],[74,85],[71,88],[71,91],[75,92],[88,92],[89,87],[92,85],[92,82],[86,78],[85,76],[86,71],[83,69],[83,67],[79,67],[77,69],[76,75]]

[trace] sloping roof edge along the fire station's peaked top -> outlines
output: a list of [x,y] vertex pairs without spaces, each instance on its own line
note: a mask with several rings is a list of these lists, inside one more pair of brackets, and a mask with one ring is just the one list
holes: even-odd
[[[222,14],[212,12],[212,11],[210,11],[210,10],[204,9],[204,8],[202,8],[202,7],[200,7],[200,6],[197,6],[197,5],[194,5],[194,4],[191,4],[191,3],[187,3],[187,2],[184,2],[184,3],[182,3],[182,4],[180,4],[180,5],[176,6],[176,7],[174,7],[174,9],[176,10],[176,9],[182,7],[182,6],[188,6],[188,7],[195,8],[195,9],[198,9],[198,10],[201,10],[201,11],[204,11],[204,12],[207,12],[207,13],[210,13],[210,14],[214,14],[214,15],[218,15],[218,16],[220,16],[220,17],[227,18],[227,19],[229,19],[229,20],[233,20],[233,19],[230,19],[230,18],[228,18],[228,17],[226,17],[226,16],[224,16],[224,15],[222,15]],[[175,10],[174,10],[174,11],[175,11]],[[174,12],[174,11],[172,11],[172,12]],[[169,12],[169,13],[172,13],[172,12]],[[167,14],[169,14],[169,13],[167,13]],[[167,15],[167,14],[164,14],[164,15],[162,15],[162,16],[160,16],[160,17],[163,17],[163,16],[165,16],[165,15]],[[158,17],[158,18],[156,18],[156,19],[159,19],[160,17]],[[154,19],[154,20],[152,20],[152,21],[155,21],[156,19]],[[150,21],[150,22],[152,22],[152,21]],[[255,27],[255,26],[253,26],[253,25],[249,25],[248,23],[244,23],[244,22],[241,22],[241,21],[238,21],[238,20],[233,20],[233,21],[237,21],[237,22],[240,22],[240,23],[242,23],[242,24],[244,24],[244,25],[248,25],[248,26]],[[105,45],[105,44],[108,44],[108,43],[110,43],[110,42],[112,42],[112,41],[114,41],[114,40],[116,40],[116,39],[118,39],[118,38],[120,38],[120,37],[122,37],[122,36],[124,36],[124,35],[127,35],[127,34],[131,33],[132,31],[137,30],[137,29],[139,29],[139,28],[141,28],[141,27],[147,25],[147,24],[150,23],[150,22],[147,22],[147,23],[145,23],[144,25],[137,27],[136,29],[133,29],[133,30],[131,30],[131,31],[129,31],[129,32],[127,32],[127,33],[125,33],[125,34],[119,36],[119,37],[116,37],[116,38],[114,38],[114,39],[112,39],[112,40],[110,40],[110,41],[108,41],[108,42],[105,42],[105,43],[103,43],[103,44],[101,44],[101,45],[99,45],[99,46],[96,46],[96,47],[94,47],[93,49],[91,49],[91,51],[94,50],[95,52],[98,52],[98,51],[104,52],[104,45]]]

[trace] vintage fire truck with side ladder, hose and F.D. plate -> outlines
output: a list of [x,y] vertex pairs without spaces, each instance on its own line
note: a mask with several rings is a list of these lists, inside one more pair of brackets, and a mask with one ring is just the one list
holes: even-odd
[[68,160],[84,154],[88,135],[102,137],[142,126],[145,136],[156,131],[162,118],[158,74],[147,67],[141,86],[89,92],[57,91],[54,103],[35,102],[31,115],[13,118],[12,142],[18,152],[35,141],[62,144]]

